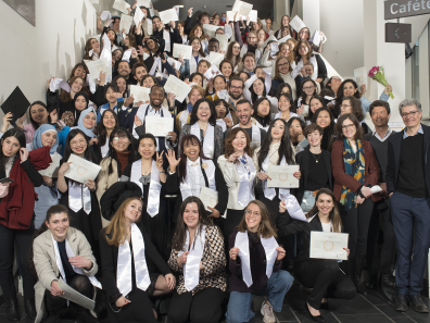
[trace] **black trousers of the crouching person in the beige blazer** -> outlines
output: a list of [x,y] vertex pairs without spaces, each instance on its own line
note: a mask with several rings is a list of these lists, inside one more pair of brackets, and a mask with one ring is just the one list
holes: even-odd
[[[81,295],[91,298],[92,285],[89,278],[85,275],[76,275],[72,282],[67,284],[76,291],[79,291]],[[50,318],[60,318],[62,310],[66,307],[67,300],[60,296],[53,296],[50,290],[45,290],[45,301],[47,303],[47,310],[49,312]],[[86,311],[86,308],[78,306],[71,301],[71,306],[75,309],[76,312]]]

